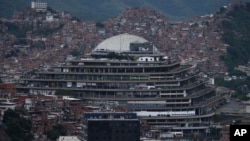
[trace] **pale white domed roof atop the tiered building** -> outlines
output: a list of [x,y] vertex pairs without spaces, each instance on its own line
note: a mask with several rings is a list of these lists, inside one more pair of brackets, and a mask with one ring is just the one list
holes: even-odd
[[145,43],[145,42],[148,41],[142,37],[125,33],[110,37],[102,41],[100,44],[97,45],[94,51],[109,50],[114,52],[125,52],[130,50],[130,43]]

